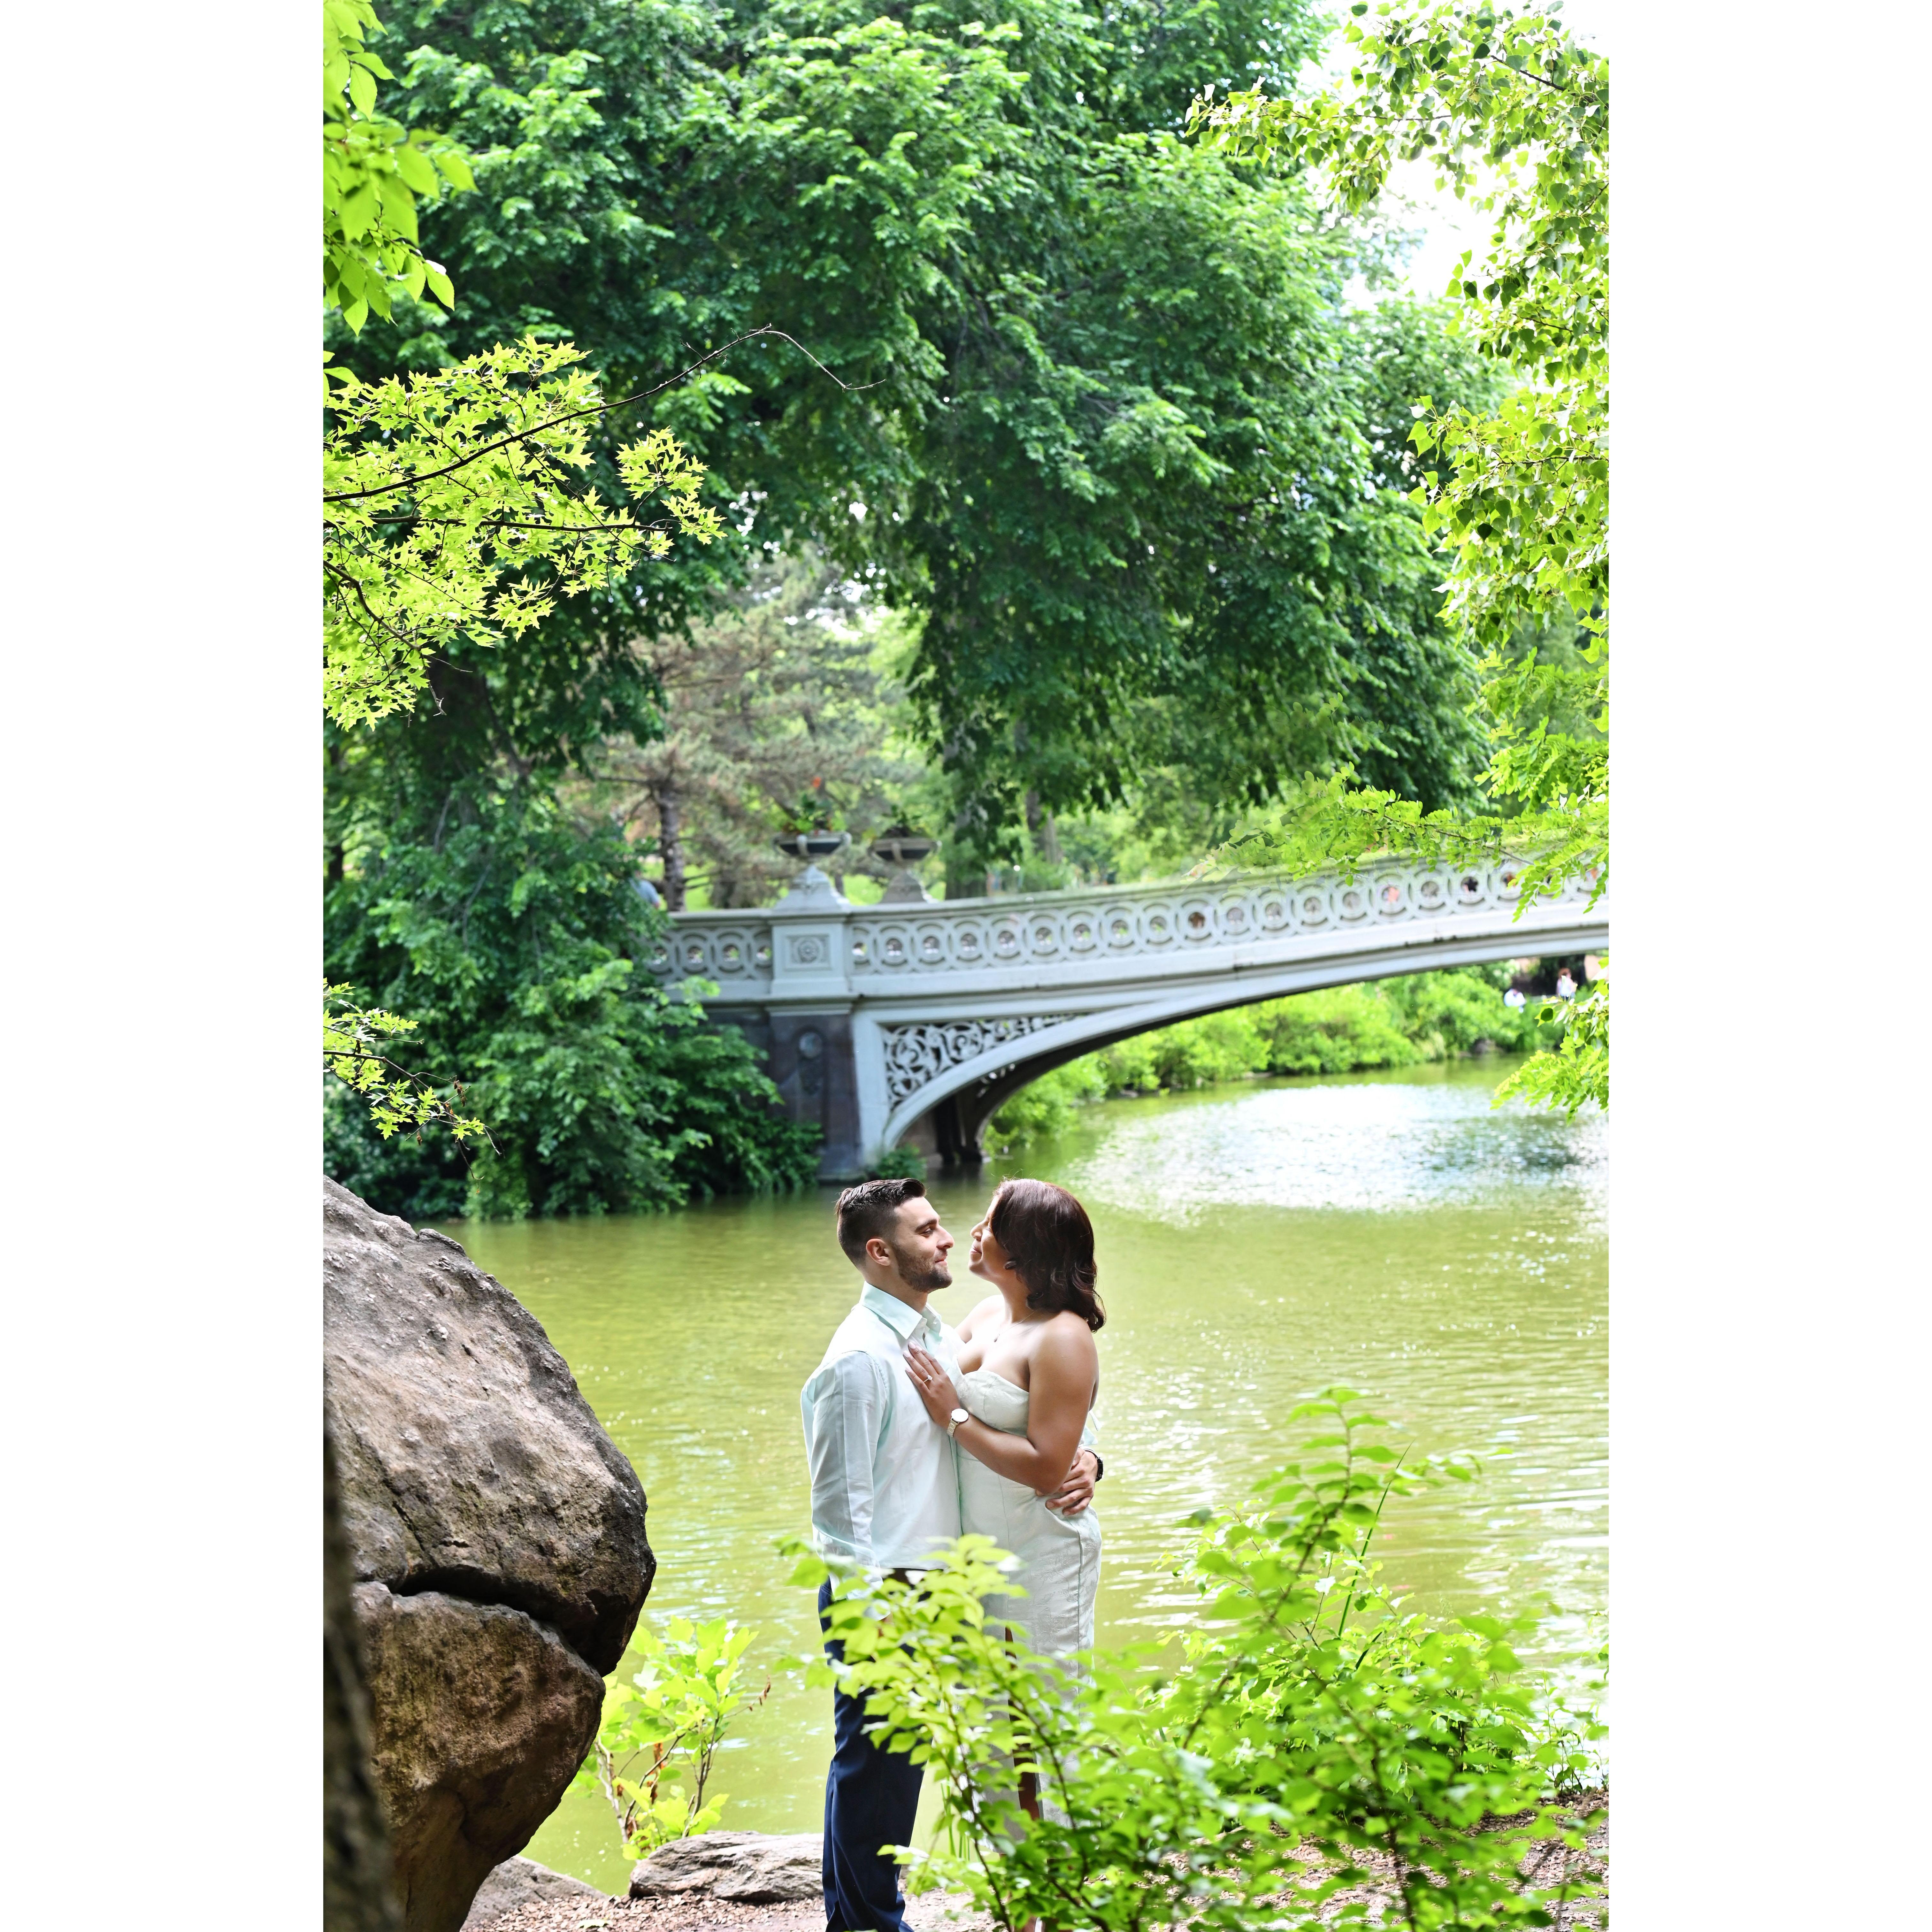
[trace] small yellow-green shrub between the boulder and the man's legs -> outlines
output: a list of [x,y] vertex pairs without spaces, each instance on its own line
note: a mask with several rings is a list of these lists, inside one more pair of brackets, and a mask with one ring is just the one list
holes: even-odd
[[[709,1791],[711,1760],[732,1718],[757,1710],[765,1689],[744,1700],[738,1665],[755,1629],[672,1617],[663,1636],[639,1629],[632,1642],[643,1667],[605,1689],[597,1743],[574,1779],[603,1793],[624,1839],[624,1857],[645,1859],[674,1837],[696,1837],[724,1816],[723,1791]],[[686,1791],[684,1779],[690,1777]]]

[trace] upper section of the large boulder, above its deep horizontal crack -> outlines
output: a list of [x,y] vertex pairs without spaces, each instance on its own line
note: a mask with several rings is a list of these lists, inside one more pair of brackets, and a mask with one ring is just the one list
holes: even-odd
[[535,1316],[325,1180],[323,1333],[357,1580],[508,1604],[616,1669],[655,1569],[643,1488]]

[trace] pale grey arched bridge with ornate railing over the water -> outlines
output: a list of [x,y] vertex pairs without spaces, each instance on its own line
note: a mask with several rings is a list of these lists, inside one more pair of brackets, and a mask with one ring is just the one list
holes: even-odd
[[1039,1074],[1175,1020],[1283,993],[1609,945],[1588,881],[1517,916],[1517,871],[1389,866],[856,906],[808,866],[775,906],[678,912],[647,956],[765,1053],[819,1173],[912,1144],[980,1159],[991,1113]]

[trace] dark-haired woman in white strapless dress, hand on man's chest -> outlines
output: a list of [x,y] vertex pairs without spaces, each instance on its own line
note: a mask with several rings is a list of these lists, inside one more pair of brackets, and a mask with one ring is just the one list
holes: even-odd
[[927,1414],[952,1432],[960,1459],[960,1520],[1018,1559],[1026,1596],[991,1596],[989,1621],[1028,1650],[1065,1658],[1094,1648],[1099,1517],[1047,1509],[1099,1395],[1094,1331],[1107,1320],[1094,1293],[1094,1223],[1047,1180],[1001,1182],[972,1231],[972,1271],[999,1291],[958,1327],[960,1395],[923,1349],[906,1368]]

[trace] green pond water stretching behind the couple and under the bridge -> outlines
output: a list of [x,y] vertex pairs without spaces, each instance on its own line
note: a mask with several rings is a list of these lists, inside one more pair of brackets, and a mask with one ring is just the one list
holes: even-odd
[[[1607,1186],[1602,1119],[1492,1111],[1497,1061],[1275,1080],[1088,1109],[974,1180],[933,1180],[964,1236],[1003,1173],[1074,1188],[1099,1235],[1101,1642],[1188,1598],[1175,1524],[1289,1449],[1293,1403],[1345,1381],[1424,1451],[1484,1478],[1393,1507],[1387,1575],[1424,1607],[1549,1596],[1559,1633],[1607,1596]],[[775,1538],[808,1524],[798,1389],[856,1294],[829,1192],[651,1219],[456,1223],[543,1321],[651,1499],[672,1613],[755,1623],[752,1660],[808,1650]],[[935,1296],[960,1316],[980,1285]],[[634,1665],[626,1665],[632,1669]],[[784,1675],[721,1760],[724,1826],[817,1830],[829,1692]],[[622,1889],[597,1801],[529,1857]]]

